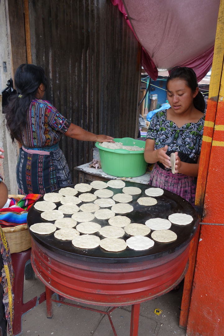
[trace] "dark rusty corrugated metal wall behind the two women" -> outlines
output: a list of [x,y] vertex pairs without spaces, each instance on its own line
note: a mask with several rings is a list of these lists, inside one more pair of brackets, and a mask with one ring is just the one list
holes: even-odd
[[[138,126],[138,44],[110,0],[30,0],[32,62],[48,78],[45,99],[74,124],[114,137]],[[92,142],[62,136],[73,168],[92,160]]]

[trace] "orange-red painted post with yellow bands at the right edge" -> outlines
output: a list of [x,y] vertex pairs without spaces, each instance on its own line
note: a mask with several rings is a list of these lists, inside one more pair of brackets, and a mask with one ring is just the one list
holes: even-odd
[[223,41],[224,0],[221,0],[196,191],[196,204],[198,209],[203,209],[203,219],[197,249],[187,336],[224,335]]

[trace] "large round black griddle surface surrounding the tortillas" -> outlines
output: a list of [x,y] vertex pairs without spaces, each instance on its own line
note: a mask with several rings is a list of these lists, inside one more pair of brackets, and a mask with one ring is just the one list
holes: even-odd
[[[171,243],[155,242],[152,248],[148,250],[143,250],[143,251],[134,251],[130,249],[129,247],[127,247],[126,250],[120,251],[120,252],[108,252],[102,249],[101,247],[97,247],[95,249],[83,250],[83,249],[79,249],[73,246],[71,241],[62,241],[62,240],[56,239],[53,233],[50,235],[39,235],[39,234],[33,233],[30,230],[31,236],[36,242],[38,242],[43,247],[49,249],[50,251],[58,253],[60,255],[64,255],[64,256],[68,256],[68,257],[72,257],[76,259],[82,259],[82,260],[84,258],[88,261],[94,261],[94,259],[95,261],[99,261],[98,258],[101,258],[101,262],[112,262],[112,263],[114,262],[118,262],[118,263],[133,262],[134,260],[136,261],[135,259],[136,257],[141,257],[140,260],[142,261],[145,259],[155,259],[158,257],[162,257],[164,255],[173,253],[190,242],[190,240],[193,238],[193,235],[195,233],[195,229],[199,223],[197,213],[190,203],[188,203],[182,197],[176,194],[173,194],[167,190],[164,190],[164,194],[162,196],[155,197],[155,199],[158,201],[156,205],[153,205],[153,206],[139,205],[137,203],[137,199],[139,197],[147,197],[147,195],[145,194],[145,189],[149,188],[150,185],[144,185],[141,183],[133,183],[133,182],[127,182],[127,181],[125,183],[126,183],[126,186],[135,186],[135,187],[140,188],[142,191],[141,194],[139,195],[132,195],[133,201],[128,204],[131,204],[134,210],[128,214],[124,214],[124,216],[127,216],[131,219],[132,223],[144,224],[146,220],[150,218],[156,218],[156,217],[168,219],[169,215],[171,215],[172,213],[176,213],[176,212],[186,213],[186,214],[191,215],[193,217],[192,223],[188,225],[183,225],[183,226],[172,224],[170,230],[174,231],[177,234],[176,241],[171,242]],[[71,185],[71,186],[73,187],[74,185]],[[114,194],[122,193],[122,189],[115,189],[111,187],[107,187],[107,189],[112,190]],[[96,189],[92,189],[89,193],[94,193],[95,191]],[[80,194],[81,193],[78,193],[76,196],[78,197]],[[41,201],[42,199],[43,197],[41,197],[38,201]],[[85,203],[87,202],[82,202],[78,204],[78,206],[80,206],[81,204],[85,204]],[[88,203],[91,203],[91,202],[88,202]],[[57,208],[60,205],[61,205],[60,202],[56,203]],[[116,215],[119,215],[119,214],[116,214]],[[64,217],[71,217],[71,216],[72,215],[64,214]],[[41,211],[36,210],[34,206],[32,206],[31,209],[29,210],[28,217],[27,217],[28,227],[30,227],[34,223],[44,222],[44,221],[45,220],[41,217]],[[94,218],[92,221],[99,223],[101,226],[109,225],[108,220],[101,220],[101,219]],[[52,223],[54,223],[54,221],[52,221]],[[147,237],[151,238],[151,232]],[[99,235],[99,233],[96,233],[94,235],[99,236],[100,239],[104,239],[104,237]],[[121,238],[126,240],[130,237],[131,236],[125,234]]]

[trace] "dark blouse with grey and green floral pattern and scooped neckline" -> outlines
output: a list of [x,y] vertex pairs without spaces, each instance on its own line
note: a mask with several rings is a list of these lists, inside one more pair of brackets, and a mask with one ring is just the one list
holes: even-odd
[[167,120],[167,110],[162,110],[152,117],[146,139],[155,140],[155,149],[168,145],[168,155],[179,152],[182,161],[195,163],[201,151],[204,123],[205,116],[197,123],[187,123],[179,128]]

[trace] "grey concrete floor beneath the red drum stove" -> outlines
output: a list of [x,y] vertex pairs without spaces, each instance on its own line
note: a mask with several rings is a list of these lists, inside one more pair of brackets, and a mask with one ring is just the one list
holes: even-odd
[[[40,295],[44,290],[44,285],[36,276],[35,280],[25,280],[24,302]],[[141,303],[138,336],[185,336],[185,330],[179,328],[182,291],[183,284],[178,291],[171,291],[159,298]],[[102,306],[92,307],[104,311],[109,309]],[[162,310],[160,316],[154,313],[155,308]],[[110,316],[117,336],[129,336],[131,306],[118,307]],[[47,319],[45,301],[23,316],[20,335],[114,336],[114,333],[107,316],[79,307],[57,306],[57,303],[53,302],[53,317]]]

